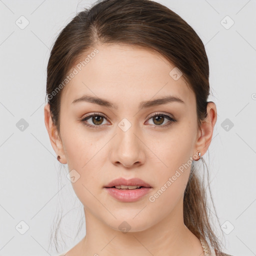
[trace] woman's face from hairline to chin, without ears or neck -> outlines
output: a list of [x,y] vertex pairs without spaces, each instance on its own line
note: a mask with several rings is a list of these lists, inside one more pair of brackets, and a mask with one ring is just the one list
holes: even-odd
[[[171,214],[181,219],[200,135],[195,95],[157,53],[124,44],[96,48],[73,67],[77,72],[71,69],[75,74],[61,94],[57,153],[72,170],[73,189],[85,211],[116,230],[145,230]],[[85,95],[94,102],[82,100]],[[161,100],[171,96],[180,101]],[[105,188],[120,177],[140,178],[151,188],[120,200]]]

